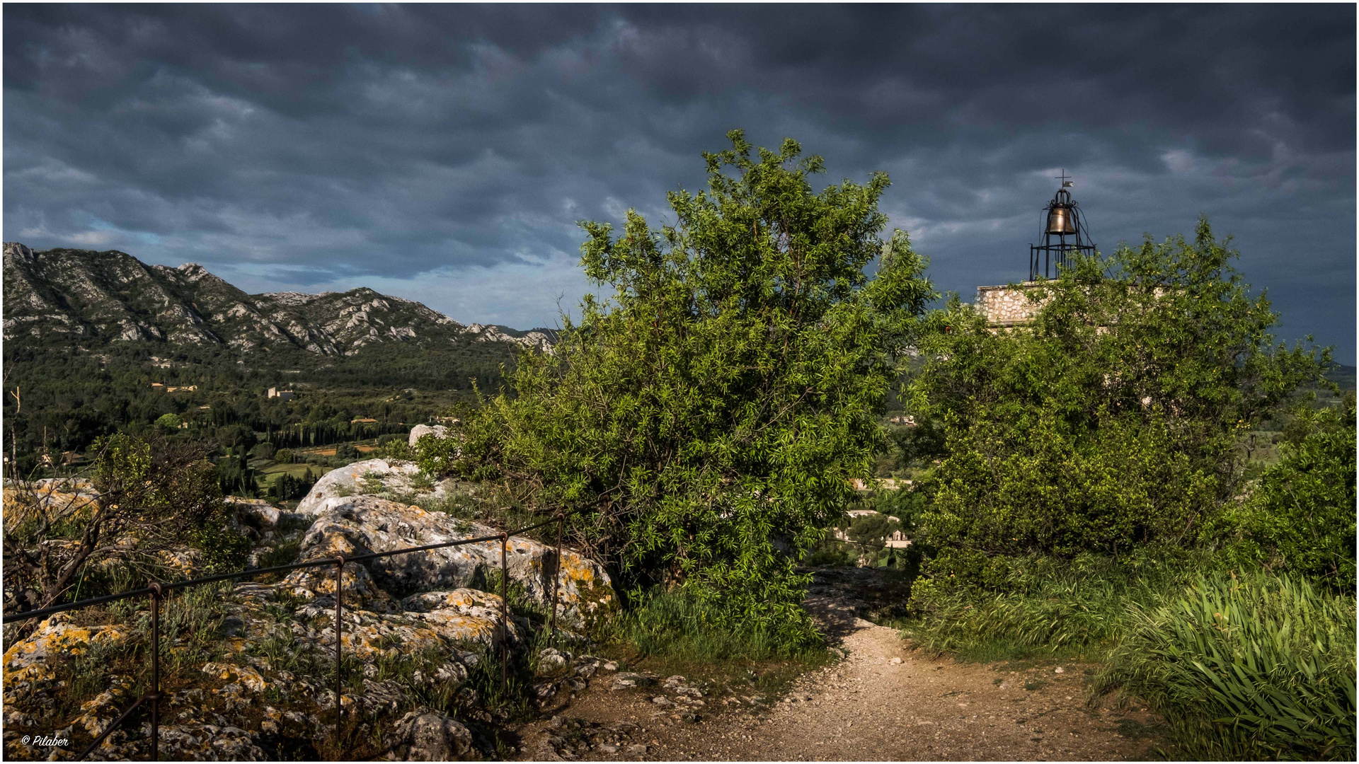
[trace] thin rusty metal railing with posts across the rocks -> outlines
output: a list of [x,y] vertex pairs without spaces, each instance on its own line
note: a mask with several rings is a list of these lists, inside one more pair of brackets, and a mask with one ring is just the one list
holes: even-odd
[[549,633],[556,633],[556,631],[557,631],[557,589],[559,589],[559,583],[560,583],[560,578],[561,578],[561,530],[563,530],[563,525],[564,525],[565,518],[567,518],[568,514],[573,514],[573,513],[560,513],[559,511],[552,518],[549,518],[549,519],[546,519],[544,522],[534,523],[534,525],[527,525],[527,526],[519,527],[516,530],[504,530],[504,532],[500,532],[500,533],[493,534],[493,536],[478,536],[476,538],[462,538],[462,540],[458,540],[458,541],[444,541],[442,544],[425,544],[424,546],[408,546],[408,548],[404,548],[404,549],[393,549],[390,552],[372,552],[372,553],[368,553],[368,555],[359,555],[359,556],[355,556],[355,557],[345,557],[344,555],[336,555],[334,557],[322,557],[322,559],[317,559],[317,560],[307,560],[304,563],[291,563],[291,564],[287,564],[287,566],[273,566],[273,567],[269,567],[269,568],[251,568],[251,570],[236,571],[236,572],[230,572],[230,574],[217,574],[217,575],[209,575],[209,576],[204,576],[204,578],[194,578],[194,579],[188,579],[188,580],[175,580],[175,582],[169,582],[169,583],[154,582],[154,583],[151,583],[151,586],[145,586],[143,589],[133,589],[133,590],[122,591],[122,593],[118,593],[118,594],[106,594],[103,597],[92,597],[90,600],[82,600],[79,602],[67,602],[64,605],[53,605],[50,608],[42,608],[41,610],[29,610],[29,612],[22,612],[22,613],[5,613],[3,623],[11,624],[11,623],[27,621],[27,620],[33,620],[33,619],[42,619],[42,617],[46,617],[46,616],[50,616],[50,614],[54,614],[54,613],[65,612],[65,610],[77,610],[77,609],[90,608],[90,606],[94,606],[94,605],[102,605],[105,602],[116,602],[116,601],[120,601],[120,600],[130,600],[133,597],[149,595],[151,597],[151,644],[152,644],[152,647],[151,647],[151,691],[149,692],[144,692],[117,719],[114,719],[111,723],[109,723],[103,729],[103,731],[99,733],[99,737],[96,737],[94,740],[94,742],[91,742],[88,746],[86,746],[84,750],[80,752],[80,754],[76,757],[76,760],[83,760],[86,756],[88,756],[90,752],[92,752],[95,748],[98,748],[99,744],[102,744],[105,741],[105,738],[109,737],[109,734],[111,734],[116,729],[118,729],[122,725],[122,722],[125,722],[128,719],[128,716],[132,715],[133,711],[136,711],[143,703],[149,703],[151,704],[151,760],[156,761],[160,757],[160,750],[159,750],[159,748],[160,748],[160,700],[163,697],[162,693],[160,693],[160,600],[164,598],[166,594],[169,594],[170,591],[173,591],[175,589],[188,589],[190,586],[198,586],[198,585],[202,585],[202,583],[215,583],[215,582],[220,582],[220,580],[236,580],[236,579],[251,578],[251,576],[257,576],[257,575],[265,575],[265,574],[273,574],[273,572],[287,572],[287,571],[295,571],[295,570],[302,570],[302,568],[315,568],[315,567],[322,567],[322,566],[336,566],[336,744],[338,745],[340,741],[342,740],[340,737],[340,731],[341,731],[342,716],[344,716],[344,708],[342,708],[341,701],[340,701],[340,699],[341,699],[341,692],[340,692],[341,691],[341,684],[340,684],[340,681],[341,681],[340,655],[341,655],[341,646],[342,646],[342,640],[341,640],[341,628],[342,628],[341,613],[342,613],[342,608],[344,608],[344,605],[342,605],[342,602],[344,602],[342,593],[344,593],[344,566],[345,566],[345,563],[366,563],[366,561],[370,561],[370,560],[376,560],[376,559],[381,559],[381,557],[391,557],[391,556],[395,556],[395,555],[409,555],[409,553],[413,553],[413,552],[428,552],[431,549],[446,549],[446,548],[450,548],[450,546],[463,546],[463,545],[467,545],[467,544],[487,544],[487,542],[497,541],[499,540],[500,541],[500,654],[501,654],[501,659],[500,659],[500,693],[504,695],[506,682],[508,680],[508,672],[510,672],[510,669],[508,669],[508,666],[510,666],[510,631],[508,631],[510,629],[510,616],[508,616],[508,605],[507,605],[507,602],[508,602],[510,571],[508,571],[508,567],[507,567],[507,563],[506,563],[506,549],[507,549],[507,546],[510,544],[510,537],[511,536],[520,536],[520,534],[529,533],[530,530],[538,530],[540,527],[545,527],[548,525],[552,525],[553,522],[557,523],[557,546],[556,546],[557,553],[556,553],[556,557],[554,557],[554,570],[553,570],[553,574],[552,574],[552,605],[550,605],[552,625],[550,625],[550,632],[549,632]]

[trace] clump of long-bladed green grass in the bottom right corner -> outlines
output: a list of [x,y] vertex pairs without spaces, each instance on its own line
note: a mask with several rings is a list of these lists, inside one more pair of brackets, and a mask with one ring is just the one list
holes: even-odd
[[1354,761],[1352,597],[1214,575],[1131,621],[1097,684],[1146,699],[1190,757]]

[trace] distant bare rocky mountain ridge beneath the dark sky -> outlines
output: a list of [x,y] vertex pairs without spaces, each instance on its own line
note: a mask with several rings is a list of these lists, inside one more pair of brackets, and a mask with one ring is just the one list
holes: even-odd
[[463,326],[370,288],[250,295],[198,264],[4,243],[4,338],[92,349],[113,343],[220,345],[242,355],[352,356],[367,345],[504,343],[550,352],[554,332]]

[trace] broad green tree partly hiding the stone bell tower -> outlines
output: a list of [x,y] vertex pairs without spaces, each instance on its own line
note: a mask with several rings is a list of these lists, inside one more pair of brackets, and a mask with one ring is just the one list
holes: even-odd
[[928,570],[1199,540],[1241,487],[1239,436],[1329,360],[1273,344],[1234,257],[1200,220],[1193,243],[1078,258],[1030,292],[1030,326],[993,332],[957,299],[930,317],[911,383],[942,434]]

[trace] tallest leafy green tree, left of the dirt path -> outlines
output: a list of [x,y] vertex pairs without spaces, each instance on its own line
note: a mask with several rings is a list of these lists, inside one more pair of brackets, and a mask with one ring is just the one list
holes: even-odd
[[682,586],[795,644],[813,631],[794,564],[870,474],[935,295],[905,234],[879,238],[885,174],[814,193],[822,160],[796,141],[753,156],[728,139],[704,154],[709,190],[669,194],[673,226],[582,223],[612,299],[587,296],[554,355],[519,362],[454,466],[578,510],[578,540],[631,585]]

